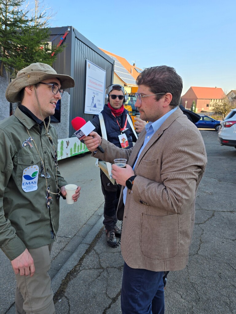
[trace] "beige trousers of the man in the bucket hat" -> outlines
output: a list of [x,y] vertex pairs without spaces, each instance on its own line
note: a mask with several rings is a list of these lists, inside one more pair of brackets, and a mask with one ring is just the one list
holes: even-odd
[[35,266],[32,277],[15,275],[16,314],[55,314],[51,278],[48,274],[52,246],[53,244],[50,244],[29,249]]

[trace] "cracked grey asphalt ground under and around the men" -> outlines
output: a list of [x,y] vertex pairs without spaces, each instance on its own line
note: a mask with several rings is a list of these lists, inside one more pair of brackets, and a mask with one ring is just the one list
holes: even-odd
[[[168,275],[166,314],[236,313],[236,149],[220,146],[215,131],[200,132],[208,165],[197,193],[188,265]],[[120,246],[105,242],[104,199],[94,164],[88,154],[59,161],[68,182],[82,189],[77,204],[61,200],[50,271],[57,314],[121,313],[123,259]],[[14,274],[2,252],[0,262],[0,313],[13,314]]]

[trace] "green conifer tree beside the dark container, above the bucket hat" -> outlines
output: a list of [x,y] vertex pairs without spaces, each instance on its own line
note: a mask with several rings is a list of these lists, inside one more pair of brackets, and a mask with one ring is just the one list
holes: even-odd
[[[37,3],[37,1],[36,1]],[[52,51],[48,47],[50,30],[47,27],[45,12],[29,17],[29,11],[23,12],[25,0],[0,0],[0,75],[3,67],[15,75],[20,69],[33,62],[52,65],[56,55],[65,46]]]

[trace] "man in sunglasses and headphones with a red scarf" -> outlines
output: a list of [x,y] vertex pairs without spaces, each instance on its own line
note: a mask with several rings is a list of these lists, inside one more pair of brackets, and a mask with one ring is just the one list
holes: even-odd
[[[108,104],[104,105],[101,114],[104,120],[107,140],[117,147],[131,148],[133,146],[132,142],[136,142],[137,138],[132,131],[129,119],[127,119],[128,111],[123,105],[128,100],[128,94],[124,87],[119,84],[108,86],[105,94],[105,101],[108,101]],[[101,123],[103,121],[100,122],[98,115],[93,117],[92,123],[96,128],[95,132],[102,136]],[[122,142],[124,138],[126,139],[125,145]],[[100,176],[102,192],[105,198],[103,224],[106,228],[106,241],[109,246],[116,247],[117,241],[115,236],[120,237],[121,231],[116,225],[116,208],[113,202],[119,199],[121,187],[118,184],[112,184],[102,170],[100,170]]]

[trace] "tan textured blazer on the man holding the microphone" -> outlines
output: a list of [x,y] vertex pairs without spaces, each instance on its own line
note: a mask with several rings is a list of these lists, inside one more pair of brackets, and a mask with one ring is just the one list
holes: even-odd
[[[145,134],[144,129],[131,149],[120,149],[103,139],[105,153],[98,151],[94,156],[111,163],[126,158],[133,167]],[[139,156],[125,207],[121,189],[117,218],[123,220],[121,252],[128,266],[167,271],[187,265],[196,192],[206,163],[199,130],[177,109]]]

